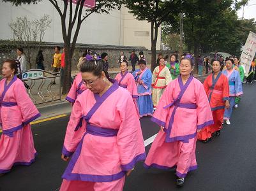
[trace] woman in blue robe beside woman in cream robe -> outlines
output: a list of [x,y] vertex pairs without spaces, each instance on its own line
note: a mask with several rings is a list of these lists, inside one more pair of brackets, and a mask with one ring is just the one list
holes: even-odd
[[137,104],[139,107],[140,117],[153,115],[153,102],[151,92],[152,73],[146,67],[144,59],[139,60],[139,69],[133,72],[136,81],[138,99]]

